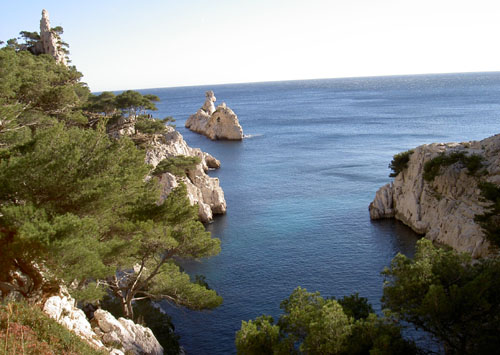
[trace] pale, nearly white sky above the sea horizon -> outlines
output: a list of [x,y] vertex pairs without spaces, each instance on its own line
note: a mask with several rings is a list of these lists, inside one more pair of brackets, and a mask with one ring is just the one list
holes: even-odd
[[61,25],[93,91],[500,70],[499,0],[1,0]]

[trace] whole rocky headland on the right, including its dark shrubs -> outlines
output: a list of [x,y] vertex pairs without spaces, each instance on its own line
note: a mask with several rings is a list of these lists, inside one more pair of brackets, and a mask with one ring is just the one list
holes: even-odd
[[497,252],[488,228],[498,227],[494,199],[500,191],[500,135],[421,145],[397,154],[394,166],[394,182],[382,186],[370,204],[372,219],[396,218],[473,257]]

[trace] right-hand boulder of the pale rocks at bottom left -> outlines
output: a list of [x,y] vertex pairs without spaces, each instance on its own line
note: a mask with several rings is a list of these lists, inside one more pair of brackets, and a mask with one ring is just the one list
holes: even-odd
[[135,324],[130,319],[116,319],[108,311],[98,309],[94,312],[102,339],[105,343],[120,343],[125,352],[134,354],[161,355],[163,348],[156,340],[151,329]]

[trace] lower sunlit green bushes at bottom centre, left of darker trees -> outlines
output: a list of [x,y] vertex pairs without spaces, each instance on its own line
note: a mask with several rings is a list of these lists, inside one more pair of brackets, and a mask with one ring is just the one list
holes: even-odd
[[[242,322],[236,333],[238,354],[414,354],[416,347],[405,341],[400,328],[370,313],[359,295],[344,297],[341,305],[333,298],[298,287],[281,303],[283,315],[275,324],[261,316]],[[357,313],[359,319],[346,313]]]

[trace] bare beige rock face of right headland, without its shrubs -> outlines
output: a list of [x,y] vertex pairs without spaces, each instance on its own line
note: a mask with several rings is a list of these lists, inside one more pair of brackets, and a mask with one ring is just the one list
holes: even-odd
[[[468,174],[460,163],[441,167],[432,182],[423,178],[424,164],[440,153],[481,155],[483,176]],[[478,181],[500,184],[500,135],[467,143],[434,143],[417,147],[408,167],[394,182],[381,187],[370,204],[372,219],[396,218],[426,238],[469,252],[473,257],[491,253],[474,216],[484,213]]]

